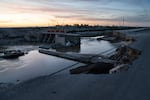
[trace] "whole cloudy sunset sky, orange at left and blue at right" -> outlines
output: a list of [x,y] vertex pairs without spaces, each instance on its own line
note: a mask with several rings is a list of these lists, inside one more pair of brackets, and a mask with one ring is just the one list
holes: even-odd
[[0,0],[0,27],[66,24],[150,26],[150,0]]

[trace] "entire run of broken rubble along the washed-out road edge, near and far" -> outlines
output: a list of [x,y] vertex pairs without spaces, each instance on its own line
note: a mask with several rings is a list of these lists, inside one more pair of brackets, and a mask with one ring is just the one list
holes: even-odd
[[[127,44],[130,44],[135,41],[133,37],[127,36],[126,34],[122,34],[120,32],[109,32],[104,33],[103,35],[104,37],[99,38],[98,40],[107,40],[113,43],[125,41],[127,42]],[[140,50],[129,47],[127,45],[121,45],[116,49],[115,53],[112,56],[108,57],[108,59],[116,61],[116,63],[101,62],[101,63],[87,64],[85,66],[71,69],[70,73],[112,74],[125,71],[128,70],[129,66],[133,63],[134,60],[136,60],[139,57],[139,55],[141,55]]]

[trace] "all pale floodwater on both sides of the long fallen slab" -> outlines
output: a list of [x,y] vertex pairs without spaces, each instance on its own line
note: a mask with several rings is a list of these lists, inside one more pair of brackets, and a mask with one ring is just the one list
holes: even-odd
[[[0,83],[17,83],[42,75],[50,75],[68,66],[77,64],[75,61],[41,54],[38,52],[37,46],[11,46],[9,48],[30,48],[30,50],[28,54],[18,59],[0,59]],[[107,41],[84,38],[81,40],[81,46],[76,49],[78,49],[79,53],[100,54],[113,48],[115,47]]]

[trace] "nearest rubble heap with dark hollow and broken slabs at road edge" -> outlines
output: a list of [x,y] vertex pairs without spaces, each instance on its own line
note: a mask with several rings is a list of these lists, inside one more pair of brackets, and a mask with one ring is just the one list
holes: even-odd
[[71,74],[113,74],[121,71],[128,70],[129,65],[141,55],[141,51],[128,47],[121,46],[116,49],[116,53],[109,59],[116,61],[116,63],[100,62],[80,66],[70,70]]

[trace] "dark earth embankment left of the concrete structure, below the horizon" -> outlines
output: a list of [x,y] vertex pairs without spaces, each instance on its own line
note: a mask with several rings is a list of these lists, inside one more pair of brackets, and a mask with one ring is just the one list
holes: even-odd
[[5,28],[0,29],[0,45],[22,45],[41,42],[42,32],[39,28]]

